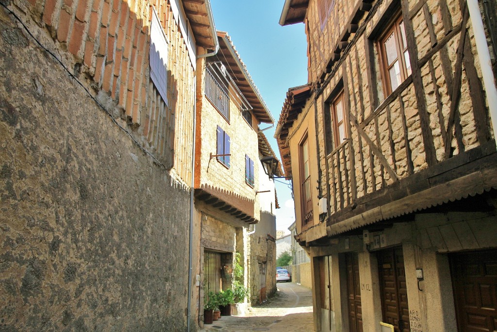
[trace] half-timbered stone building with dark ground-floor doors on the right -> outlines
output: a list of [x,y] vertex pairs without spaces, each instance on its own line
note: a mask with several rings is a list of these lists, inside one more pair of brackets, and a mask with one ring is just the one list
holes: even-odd
[[472,0],[285,1],[309,81],[275,137],[316,331],[496,328],[495,19]]

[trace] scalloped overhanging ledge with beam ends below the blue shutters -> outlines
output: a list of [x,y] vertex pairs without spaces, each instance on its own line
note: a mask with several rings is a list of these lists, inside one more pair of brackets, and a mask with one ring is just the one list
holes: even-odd
[[254,217],[254,200],[215,186],[201,185],[195,188],[194,196],[247,224],[259,222]]

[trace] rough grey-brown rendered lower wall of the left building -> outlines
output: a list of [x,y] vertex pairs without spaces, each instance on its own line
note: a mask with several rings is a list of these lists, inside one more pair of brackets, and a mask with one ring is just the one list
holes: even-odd
[[3,9],[0,169],[1,330],[185,328],[188,188]]

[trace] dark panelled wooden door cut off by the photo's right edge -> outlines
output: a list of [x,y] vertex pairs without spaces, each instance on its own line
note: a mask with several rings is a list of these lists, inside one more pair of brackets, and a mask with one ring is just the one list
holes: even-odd
[[457,326],[461,332],[497,330],[497,250],[450,256]]

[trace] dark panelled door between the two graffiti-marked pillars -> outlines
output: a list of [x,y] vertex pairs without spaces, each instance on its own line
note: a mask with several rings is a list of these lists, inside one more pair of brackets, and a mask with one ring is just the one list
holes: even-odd
[[402,247],[378,252],[383,322],[392,324],[396,332],[409,332],[406,271]]

